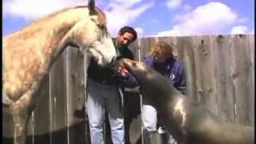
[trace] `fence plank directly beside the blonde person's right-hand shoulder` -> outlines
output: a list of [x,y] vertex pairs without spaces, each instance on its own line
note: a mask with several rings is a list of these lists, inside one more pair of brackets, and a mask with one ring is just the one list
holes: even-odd
[[178,37],[175,47],[177,47],[178,58],[186,70],[186,94],[198,101],[195,83],[194,38]]

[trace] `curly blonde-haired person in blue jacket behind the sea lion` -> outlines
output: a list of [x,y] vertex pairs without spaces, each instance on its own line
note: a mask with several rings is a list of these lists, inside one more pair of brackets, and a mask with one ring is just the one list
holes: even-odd
[[[157,70],[160,74],[170,79],[174,87],[182,93],[186,90],[186,74],[182,62],[174,58],[173,46],[166,42],[155,42],[150,47],[150,53],[144,59],[144,62]],[[143,95],[143,94],[142,94]],[[142,99],[142,122],[144,126],[144,142],[150,143],[151,134],[157,130],[157,111],[151,102],[143,96]],[[169,144],[177,143],[169,135]]]

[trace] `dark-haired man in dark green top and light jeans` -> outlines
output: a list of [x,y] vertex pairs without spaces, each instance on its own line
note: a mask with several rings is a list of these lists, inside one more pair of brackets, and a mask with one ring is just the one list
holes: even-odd
[[[124,26],[118,31],[117,38],[113,39],[116,48],[117,60],[120,58],[134,59],[134,54],[128,49],[131,42],[137,39],[136,31],[130,26]],[[124,124],[120,86],[134,83],[134,77],[129,74],[120,77],[113,70],[113,65],[98,66],[92,61],[88,68],[86,112],[90,123],[90,140],[92,144],[102,144],[102,126],[104,110],[108,111],[112,142],[124,143]]]

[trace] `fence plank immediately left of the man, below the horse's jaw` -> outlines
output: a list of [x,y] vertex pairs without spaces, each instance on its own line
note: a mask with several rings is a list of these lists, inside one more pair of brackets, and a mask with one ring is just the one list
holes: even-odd
[[[68,129],[70,134],[70,143],[86,143],[86,122],[84,107],[78,106],[78,103],[84,103],[84,78],[83,78],[83,57],[74,47],[67,48],[66,58],[66,78],[67,78],[67,107],[68,107]],[[77,111],[80,115],[76,115]]]

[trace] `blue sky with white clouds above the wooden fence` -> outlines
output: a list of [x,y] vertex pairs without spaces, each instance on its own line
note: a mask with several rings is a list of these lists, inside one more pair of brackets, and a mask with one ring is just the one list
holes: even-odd
[[[3,36],[64,7],[87,0],[3,0]],[[110,35],[132,26],[138,37],[254,34],[254,0],[95,0]]]

